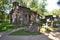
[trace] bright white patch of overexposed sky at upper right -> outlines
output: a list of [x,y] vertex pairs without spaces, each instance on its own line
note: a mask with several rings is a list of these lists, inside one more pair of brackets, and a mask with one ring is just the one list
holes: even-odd
[[57,5],[58,0],[47,0],[47,6],[46,9],[48,11],[52,11],[53,9],[60,9],[60,7]]

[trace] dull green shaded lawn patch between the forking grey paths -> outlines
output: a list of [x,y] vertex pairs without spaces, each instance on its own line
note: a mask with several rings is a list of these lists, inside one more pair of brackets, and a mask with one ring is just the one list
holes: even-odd
[[41,34],[41,33],[28,32],[28,31],[25,31],[25,30],[19,30],[19,31],[11,33],[10,35],[39,35],[39,34]]

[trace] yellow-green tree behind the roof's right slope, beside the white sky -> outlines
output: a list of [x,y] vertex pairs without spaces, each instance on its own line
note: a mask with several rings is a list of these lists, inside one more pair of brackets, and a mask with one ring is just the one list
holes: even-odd
[[34,11],[37,11],[38,14],[44,15],[44,12],[47,12],[45,9],[45,6],[47,5],[46,1],[47,0],[32,0],[30,8],[32,8]]

